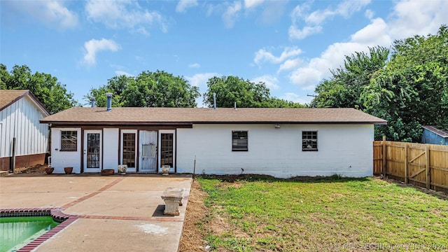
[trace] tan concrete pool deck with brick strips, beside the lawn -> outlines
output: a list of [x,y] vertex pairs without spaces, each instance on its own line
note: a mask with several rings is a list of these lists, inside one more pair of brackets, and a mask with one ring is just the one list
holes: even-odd
[[[11,174],[0,177],[0,209],[57,208],[78,216],[35,251],[178,251],[188,174]],[[165,188],[183,188],[179,216],[165,216]]]

